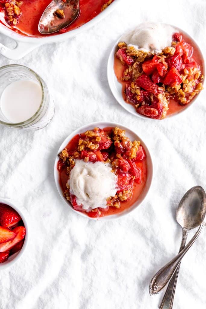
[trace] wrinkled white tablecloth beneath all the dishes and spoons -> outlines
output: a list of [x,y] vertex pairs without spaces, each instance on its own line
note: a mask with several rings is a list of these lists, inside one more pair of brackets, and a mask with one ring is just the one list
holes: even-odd
[[[106,64],[117,38],[146,20],[185,29],[205,54],[206,2],[124,3],[74,39],[44,45],[16,62],[0,57],[1,66],[19,63],[40,74],[56,104],[53,121],[43,130],[0,127],[0,195],[28,210],[34,230],[27,253],[1,272],[1,309],[153,309],[163,296],[150,297],[148,287],[179,250],[177,205],[190,187],[206,188],[205,91],[179,116],[142,120],[111,95]],[[133,213],[95,222],[61,201],[53,162],[69,133],[104,120],[120,122],[141,136],[153,155],[154,180],[146,201]],[[205,308],[205,233],[183,259],[175,309]]]

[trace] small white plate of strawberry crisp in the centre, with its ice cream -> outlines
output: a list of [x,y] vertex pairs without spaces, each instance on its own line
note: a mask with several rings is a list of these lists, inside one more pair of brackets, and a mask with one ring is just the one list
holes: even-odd
[[119,218],[139,206],[152,182],[148,148],[135,132],[94,122],[71,133],[59,148],[54,178],[63,201],[86,218]]

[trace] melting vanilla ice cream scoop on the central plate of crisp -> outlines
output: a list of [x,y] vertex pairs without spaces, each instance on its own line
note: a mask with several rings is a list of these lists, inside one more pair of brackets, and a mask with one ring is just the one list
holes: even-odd
[[110,163],[75,160],[68,184],[84,210],[106,208],[107,198],[116,194],[117,176]]

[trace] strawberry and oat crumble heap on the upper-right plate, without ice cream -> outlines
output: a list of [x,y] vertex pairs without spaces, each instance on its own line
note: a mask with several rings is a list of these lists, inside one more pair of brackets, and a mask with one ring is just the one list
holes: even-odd
[[171,45],[151,55],[124,42],[118,44],[116,57],[125,67],[121,80],[126,82],[126,98],[142,115],[163,119],[170,99],[186,105],[203,89],[204,76],[192,58],[193,47],[180,33],[174,33]]

